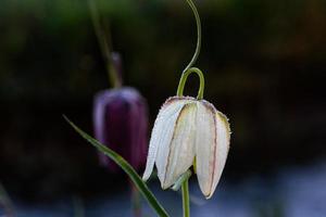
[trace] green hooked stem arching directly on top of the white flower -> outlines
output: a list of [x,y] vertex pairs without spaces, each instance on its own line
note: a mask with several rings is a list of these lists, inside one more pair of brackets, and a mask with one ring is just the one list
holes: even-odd
[[199,85],[197,99],[202,100],[203,99],[204,87],[205,87],[205,79],[204,79],[204,76],[203,76],[202,72],[197,67],[188,68],[186,72],[183,73],[180,81],[179,81],[179,86],[178,86],[178,89],[177,89],[177,95],[178,97],[184,95],[185,85],[186,85],[186,81],[188,79],[188,76],[191,73],[196,73],[199,76],[200,85]]

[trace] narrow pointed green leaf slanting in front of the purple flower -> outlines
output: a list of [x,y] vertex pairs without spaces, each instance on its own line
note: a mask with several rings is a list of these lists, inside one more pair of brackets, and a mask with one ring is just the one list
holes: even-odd
[[114,161],[131,179],[140,193],[145,196],[147,202],[151,205],[154,212],[160,217],[168,217],[166,210],[163,206],[158,202],[153,193],[150,191],[148,186],[142,181],[141,177],[135,171],[135,169],[128,164],[126,159],[124,159],[116,152],[112,151],[108,146],[101,144],[98,140],[87,135],[85,131],[79,129],[74,123],[72,123],[66,116],[63,116],[65,120],[89,143],[96,146],[100,152],[109,156],[112,161]]

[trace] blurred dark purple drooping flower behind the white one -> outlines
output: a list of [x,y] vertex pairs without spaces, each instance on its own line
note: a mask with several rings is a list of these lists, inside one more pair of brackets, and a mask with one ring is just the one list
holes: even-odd
[[[140,169],[148,150],[148,106],[134,88],[103,90],[93,102],[95,137]],[[100,153],[100,163],[117,171],[117,166]]]

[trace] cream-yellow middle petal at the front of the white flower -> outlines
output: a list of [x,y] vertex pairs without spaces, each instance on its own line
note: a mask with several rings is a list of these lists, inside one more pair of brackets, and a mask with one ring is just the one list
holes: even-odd
[[163,189],[170,188],[193,164],[197,103],[186,104],[176,120],[170,144]]

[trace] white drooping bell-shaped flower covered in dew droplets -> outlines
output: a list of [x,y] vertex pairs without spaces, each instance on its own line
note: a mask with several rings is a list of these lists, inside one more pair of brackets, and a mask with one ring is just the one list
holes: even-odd
[[163,104],[150,140],[147,180],[154,167],[163,189],[170,188],[193,165],[206,199],[215,191],[229,149],[230,129],[225,115],[205,100],[173,97]]

